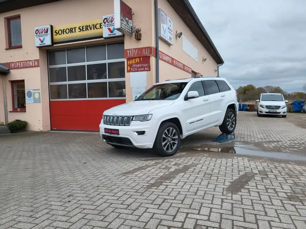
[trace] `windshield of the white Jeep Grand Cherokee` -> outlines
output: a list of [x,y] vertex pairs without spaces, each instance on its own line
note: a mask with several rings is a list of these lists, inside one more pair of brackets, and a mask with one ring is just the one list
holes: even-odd
[[188,82],[155,84],[134,101],[141,100],[175,100],[177,99]]

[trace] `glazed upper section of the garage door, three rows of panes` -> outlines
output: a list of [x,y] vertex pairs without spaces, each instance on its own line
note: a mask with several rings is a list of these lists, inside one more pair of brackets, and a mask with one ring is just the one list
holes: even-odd
[[125,98],[124,43],[48,52],[50,100]]

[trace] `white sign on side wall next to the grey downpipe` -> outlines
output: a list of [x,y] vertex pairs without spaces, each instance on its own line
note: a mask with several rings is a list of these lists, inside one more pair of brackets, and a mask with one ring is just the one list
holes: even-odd
[[173,21],[161,9],[158,9],[158,36],[168,45],[173,45]]

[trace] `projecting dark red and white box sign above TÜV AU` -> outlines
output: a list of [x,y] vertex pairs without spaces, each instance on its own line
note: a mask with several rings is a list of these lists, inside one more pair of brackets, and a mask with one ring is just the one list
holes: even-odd
[[122,0],[114,0],[115,29],[132,35],[132,8]]

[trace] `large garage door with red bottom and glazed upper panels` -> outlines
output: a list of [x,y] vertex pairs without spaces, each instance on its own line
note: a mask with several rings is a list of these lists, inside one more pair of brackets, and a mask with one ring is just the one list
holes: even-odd
[[103,111],[125,103],[124,43],[48,52],[51,129],[99,130]]

